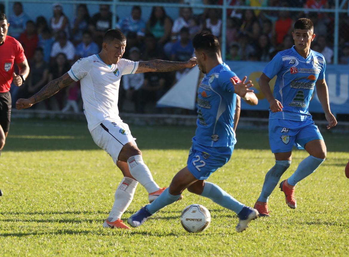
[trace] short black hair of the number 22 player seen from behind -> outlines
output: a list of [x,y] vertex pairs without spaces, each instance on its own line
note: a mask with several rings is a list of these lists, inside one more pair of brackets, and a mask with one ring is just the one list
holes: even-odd
[[210,57],[214,57],[216,53],[221,55],[221,47],[219,45],[218,38],[213,34],[196,34],[193,38],[193,47],[196,51],[205,51]]

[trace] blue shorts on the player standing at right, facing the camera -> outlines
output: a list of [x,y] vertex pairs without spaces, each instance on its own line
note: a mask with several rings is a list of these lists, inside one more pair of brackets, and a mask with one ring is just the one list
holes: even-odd
[[307,142],[321,139],[322,135],[312,119],[296,120],[270,119],[269,144],[273,153],[291,152],[292,146],[304,149]]

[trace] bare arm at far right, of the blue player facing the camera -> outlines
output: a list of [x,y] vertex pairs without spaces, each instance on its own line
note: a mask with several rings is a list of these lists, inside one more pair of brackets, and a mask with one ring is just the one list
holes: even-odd
[[328,88],[327,88],[326,80],[320,79],[316,81],[315,85],[316,85],[316,93],[318,95],[322,109],[325,112],[325,117],[328,121],[327,129],[331,129],[331,127],[334,127],[335,125],[337,125],[337,120],[329,108]]

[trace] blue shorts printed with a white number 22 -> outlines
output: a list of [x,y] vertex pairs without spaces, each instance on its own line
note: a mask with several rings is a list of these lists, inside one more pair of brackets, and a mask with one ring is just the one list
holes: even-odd
[[197,179],[207,179],[218,168],[227,163],[233,153],[234,146],[209,147],[196,143],[189,150],[187,166]]

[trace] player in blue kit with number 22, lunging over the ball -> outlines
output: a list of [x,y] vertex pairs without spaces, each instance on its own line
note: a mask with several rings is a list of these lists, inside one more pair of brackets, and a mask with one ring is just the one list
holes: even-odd
[[218,39],[211,34],[198,34],[193,39],[196,62],[205,74],[198,88],[198,120],[193,145],[189,150],[187,166],[180,170],[153,203],[142,207],[127,220],[139,227],[151,215],[174,203],[183,190],[210,198],[215,203],[238,214],[237,232],[247,228],[258,217],[258,211],[247,207],[223,191],[219,186],[205,182],[211,173],[230,159],[236,143],[233,130],[236,95],[255,105],[258,99],[251,81],[243,81],[233,73],[221,58]]

